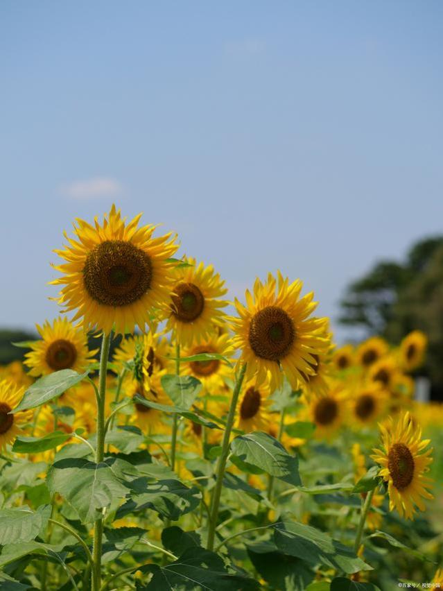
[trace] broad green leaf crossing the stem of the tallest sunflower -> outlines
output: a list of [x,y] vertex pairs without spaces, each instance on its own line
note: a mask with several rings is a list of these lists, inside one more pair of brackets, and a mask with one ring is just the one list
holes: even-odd
[[82,523],[96,521],[103,508],[118,505],[128,488],[107,463],[96,464],[84,458],[55,462],[46,477],[49,492],[60,493],[75,509]]

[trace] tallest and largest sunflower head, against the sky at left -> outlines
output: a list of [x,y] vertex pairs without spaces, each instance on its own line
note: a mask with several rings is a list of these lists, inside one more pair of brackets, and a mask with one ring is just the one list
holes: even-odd
[[54,268],[63,276],[52,282],[64,285],[59,304],[76,309],[73,320],[82,318],[85,330],[96,327],[109,333],[144,330],[153,308],[170,302],[171,270],[168,262],[177,250],[175,236],[153,238],[154,225],[138,228],[141,214],[128,225],[112,205],[95,226],[78,220],[77,240],[69,239],[55,252],[67,262]]

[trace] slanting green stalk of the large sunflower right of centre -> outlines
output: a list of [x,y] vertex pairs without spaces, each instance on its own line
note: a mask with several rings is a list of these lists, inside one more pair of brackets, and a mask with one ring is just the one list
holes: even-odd
[[238,402],[238,395],[240,394],[240,391],[241,391],[241,384],[243,384],[245,372],[246,372],[246,363],[243,363],[243,366],[241,367],[241,370],[238,373],[234,392],[232,393],[231,405],[229,406],[229,413],[227,415],[227,420],[226,420],[225,434],[223,435],[222,452],[220,454],[220,457],[218,458],[216,486],[214,487],[214,492],[212,493],[211,519],[209,520],[209,527],[208,527],[208,541],[207,541],[207,549],[208,550],[214,549],[214,538],[216,535],[218,506],[220,505],[220,495],[221,495],[221,490],[222,490],[222,486],[223,486],[223,477],[225,476],[227,456],[229,455],[229,439],[231,438],[231,431],[232,431],[232,427],[234,425],[234,417],[235,417],[235,411],[236,411],[236,406],[237,406],[237,402]]

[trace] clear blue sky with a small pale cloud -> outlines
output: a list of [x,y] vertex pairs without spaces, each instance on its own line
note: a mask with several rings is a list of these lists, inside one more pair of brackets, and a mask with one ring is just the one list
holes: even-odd
[[51,250],[113,201],[335,318],[443,230],[442,58],[440,0],[3,0],[0,325],[58,314]]

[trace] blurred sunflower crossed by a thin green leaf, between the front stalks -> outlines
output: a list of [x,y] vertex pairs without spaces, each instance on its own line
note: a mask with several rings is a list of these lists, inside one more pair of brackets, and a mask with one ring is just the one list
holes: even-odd
[[[223,355],[228,359],[234,354],[229,334],[213,333],[203,339],[199,345],[182,351],[182,357],[192,357],[200,353]],[[232,375],[232,369],[223,359],[209,359],[208,361],[184,361],[180,366],[184,375],[193,375],[202,382],[205,391],[218,393],[225,386],[225,379]]]

